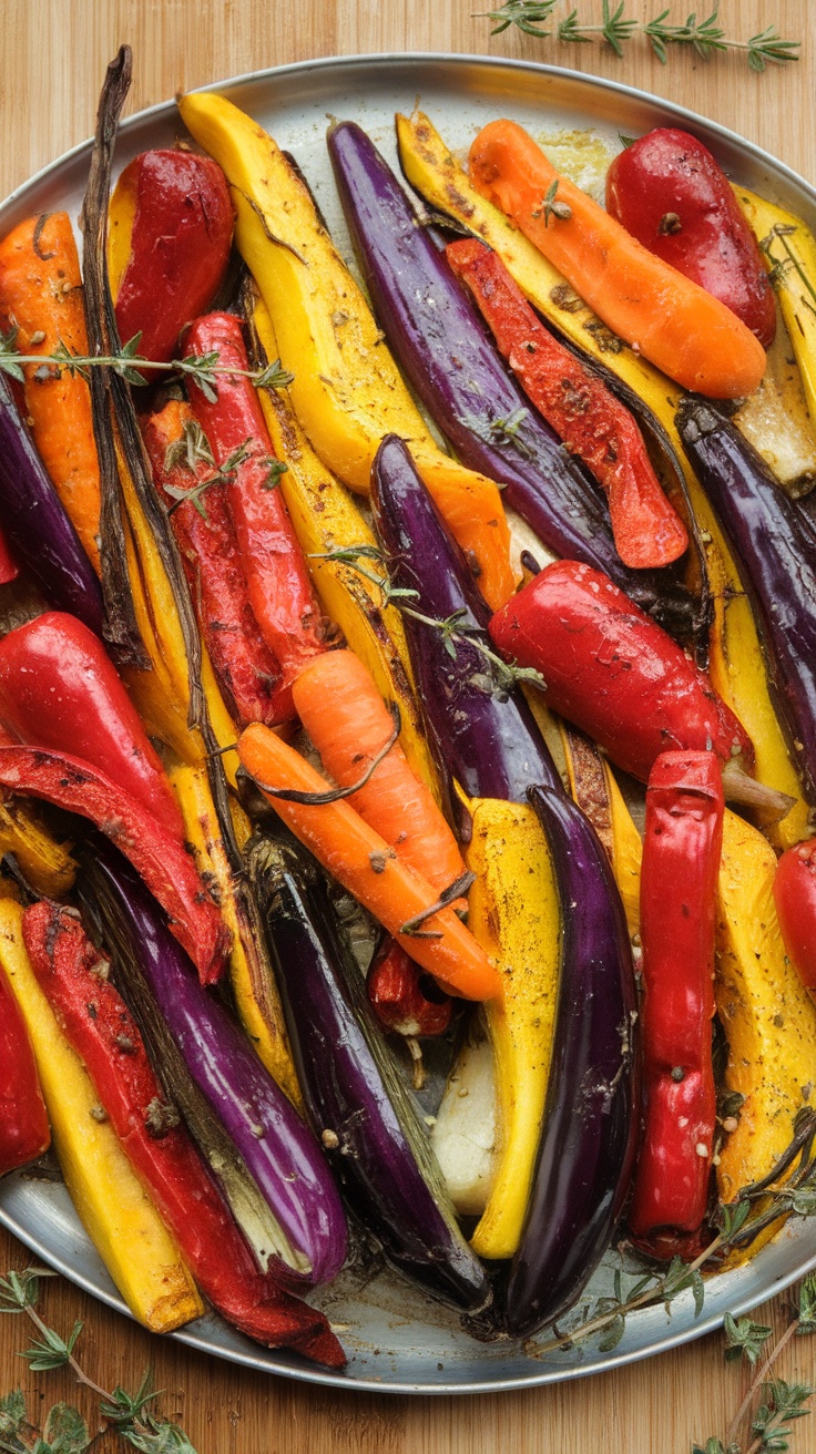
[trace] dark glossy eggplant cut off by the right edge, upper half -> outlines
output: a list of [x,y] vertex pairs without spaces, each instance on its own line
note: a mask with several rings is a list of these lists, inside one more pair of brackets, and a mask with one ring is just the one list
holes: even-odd
[[676,423],[685,451],[729,539],[768,659],[791,760],[816,804],[816,541],[740,432],[689,400]]

